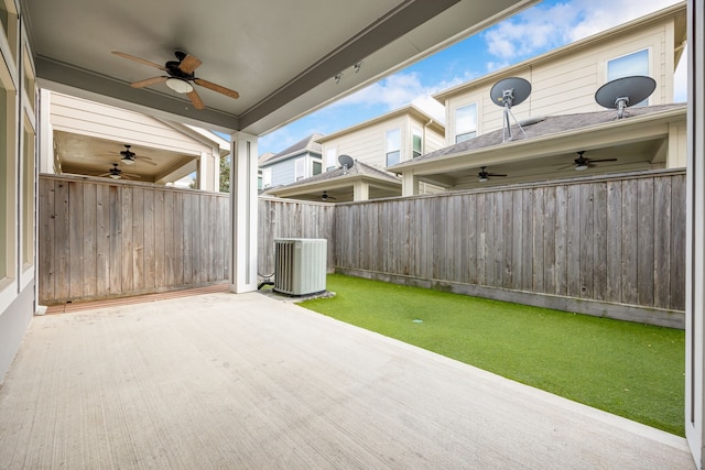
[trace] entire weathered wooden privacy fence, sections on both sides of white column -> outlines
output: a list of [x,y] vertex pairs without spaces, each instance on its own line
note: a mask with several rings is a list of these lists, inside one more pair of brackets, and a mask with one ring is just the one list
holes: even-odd
[[[328,269],[682,327],[685,172],[657,171],[349,204],[260,198],[258,271],[275,238],[325,238]],[[228,195],[40,178],[40,300],[228,280]]]

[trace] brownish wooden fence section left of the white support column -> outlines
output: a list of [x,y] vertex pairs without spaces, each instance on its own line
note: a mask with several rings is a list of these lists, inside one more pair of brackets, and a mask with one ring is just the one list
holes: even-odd
[[227,194],[41,175],[40,302],[227,281],[228,207]]

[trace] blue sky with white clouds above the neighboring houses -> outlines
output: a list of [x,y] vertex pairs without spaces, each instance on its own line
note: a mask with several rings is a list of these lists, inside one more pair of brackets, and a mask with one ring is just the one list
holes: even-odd
[[[337,102],[261,136],[258,153],[279,153],[318,132],[330,134],[413,103],[443,122],[432,95],[643,17],[680,0],[543,0]],[[675,101],[685,101],[685,54]]]

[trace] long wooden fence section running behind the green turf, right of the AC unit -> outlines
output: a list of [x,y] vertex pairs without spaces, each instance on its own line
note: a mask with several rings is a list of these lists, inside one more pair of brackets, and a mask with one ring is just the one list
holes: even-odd
[[679,326],[685,173],[338,205],[335,244],[349,274]]

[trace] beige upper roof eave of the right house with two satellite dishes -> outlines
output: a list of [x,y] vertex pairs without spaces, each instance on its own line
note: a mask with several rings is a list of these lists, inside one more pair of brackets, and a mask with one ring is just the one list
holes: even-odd
[[[644,29],[647,26],[649,26],[650,24],[653,23],[659,23],[659,22],[663,22],[665,19],[668,18],[676,18],[677,17],[682,17],[681,18],[681,24],[676,24],[676,34],[680,33],[683,37],[682,40],[685,41],[685,36],[686,36],[686,22],[685,22],[685,11],[686,11],[686,2],[680,2],[676,4],[673,4],[671,7],[664,8],[662,10],[659,10],[654,13],[648,14],[646,17],[641,17],[638,18],[633,21],[630,21],[628,23],[623,23],[623,24],[619,24],[615,28],[611,28],[609,30],[603,31],[600,33],[597,34],[593,34],[590,36],[584,37],[582,40],[575,41],[571,44],[566,44],[562,47],[557,47],[553,51],[549,51],[542,55],[529,58],[527,61],[520,62],[518,64],[511,65],[509,67],[505,67],[501,68],[499,70],[492,72],[490,74],[486,74],[482,75],[479,78],[476,78],[474,80],[470,81],[465,81],[463,84],[459,84],[455,87],[442,90],[435,95],[433,95],[432,97],[441,102],[442,105],[445,105],[446,99],[448,99],[452,96],[455,95],[459,95],[462,92],[465,92],[466,90],[473,89],[473,88],[477,88],[479,86],[486,85],[486,84],[491,84],[497,81],[500,78],[507,77],[507,76],[511,76],[514,73],[519,73],[520,70],[525,69],[527,67],[530,66],[535,66],[539,65],[543,62],[549,62],[554,59],[555,57],[560,57],[563,55],[568,55],[572,54],[581,48],[585,48],[588,46],[592,46],[594,44],[598,44],[600,42],[605,42],[605,41],[611,41],[615,36],[627,36],[629,34],[632,34],[633,30],[637,29]],[[677,23],[677,22],[676,22]],[[680,44],[677,42],[679,37],[676,37],[676,56],[675,56],[675,63],[677,64],[679,58],[683,52],[683,47],[682,44]]]

